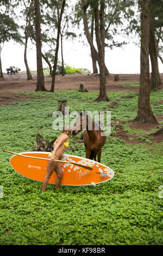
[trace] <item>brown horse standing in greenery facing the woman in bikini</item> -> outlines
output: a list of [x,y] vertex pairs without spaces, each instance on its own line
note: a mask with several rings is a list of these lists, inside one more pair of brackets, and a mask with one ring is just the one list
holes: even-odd
[[79,113],[76,123],[73,127],[73,135],[77,135],[78,132],[84,130],[84,145],[87,159],[93,159],[98,162],[101,161],[102,147],[105,144],[106,136],[102,136],[104,133],[98,124],[96,124],[91,117],[83,111]]

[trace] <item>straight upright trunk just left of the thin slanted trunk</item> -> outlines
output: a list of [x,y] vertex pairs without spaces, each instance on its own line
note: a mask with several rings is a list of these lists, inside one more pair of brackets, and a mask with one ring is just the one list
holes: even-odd
[[47,92],[44,86],[44,76],[42,68],[42,53],[41,53],[41,14],[40,2],[35,0],[35,33],[36,33],[36,57],[37,57],[37,83],[36,91]]

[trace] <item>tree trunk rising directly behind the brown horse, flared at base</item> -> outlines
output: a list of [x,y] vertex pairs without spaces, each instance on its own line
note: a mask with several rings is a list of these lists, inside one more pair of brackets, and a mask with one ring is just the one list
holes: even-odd
[[95,9],[95,34],[96,34],[96,42],[99,53],[99,96],[95,101],[109,101],[108,96],[106,94],[105,87],[105,27],[104,27],[104,8],[105,2],[101,0],[101,8],[100,11],[98,9],[98,2],[94,7]]

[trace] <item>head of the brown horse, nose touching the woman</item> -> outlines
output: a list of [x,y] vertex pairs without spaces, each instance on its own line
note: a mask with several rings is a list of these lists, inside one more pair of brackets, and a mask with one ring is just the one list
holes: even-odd
[[78,112],[78,117],[76,119],[76,123],[74,124],[74,126],[72,128],[72,130],[73,130],[72,135],[77,135],[78,132],[86,129],[86,116],[87,116],[87,113],[85,110],[81,113]]

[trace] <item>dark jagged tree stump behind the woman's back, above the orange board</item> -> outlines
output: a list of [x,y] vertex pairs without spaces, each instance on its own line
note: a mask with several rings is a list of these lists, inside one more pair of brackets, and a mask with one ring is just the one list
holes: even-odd
[[36,145],[33,148],[33,151],[44,151],[44,152],[51,152],[53,151],[53,143],[55,142],[54,138],[53,141],[49,142],[47,141],[45,138],[43,138],[42,135],[40,135],[39,133],[36,136]]

